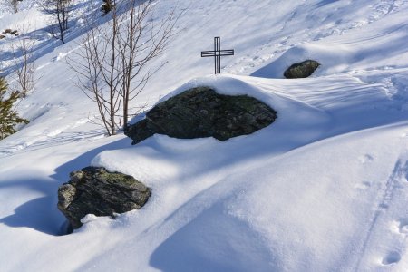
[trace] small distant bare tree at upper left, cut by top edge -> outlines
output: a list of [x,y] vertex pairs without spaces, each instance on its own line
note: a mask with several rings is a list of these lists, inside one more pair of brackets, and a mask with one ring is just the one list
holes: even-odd
[[41,6],[45,13],[53,15],[59,30],[59,39],[65,44],[64,34],[68,29],[68,19],[71,11],[71,0],[43,0]]

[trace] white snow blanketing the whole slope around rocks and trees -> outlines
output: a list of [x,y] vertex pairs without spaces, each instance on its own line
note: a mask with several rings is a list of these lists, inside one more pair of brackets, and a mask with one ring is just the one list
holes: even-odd
[[[97,3],[73,2],[66,44],[47,34],[37,1],[17,14],[0,4],[0,31],[30,25],[38,74],[17,105],[30,123],[0,141],[1,271],[408,270],[406,1],[157,1],[157,20],[184,11],[180,32],[132,106],[209,86],[266,102],[277,121],[228,141],[154,135],[135,146],[105,137],[74,85],[66,57]],[[10,84],[22,36],[0,40]],[[199,57],[214,36],[236,52],[217,76]],[[312,77],[283,78],[306,59],[321,63]],[[151,199],[62,235],[58,186],[89,165],[134,176]]]

